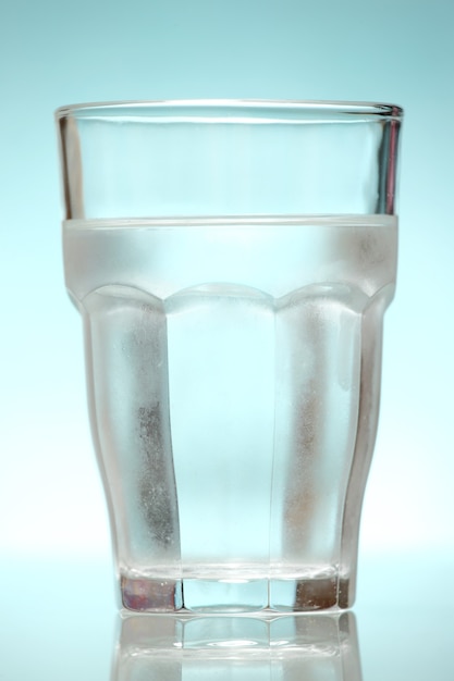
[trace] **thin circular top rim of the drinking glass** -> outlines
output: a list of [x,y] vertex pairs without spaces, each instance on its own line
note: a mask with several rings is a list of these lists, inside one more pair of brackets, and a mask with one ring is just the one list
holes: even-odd
[[338,121],[401,121],[403,109],[397,104],[335,101],[335,100],[285,100],[285,99],[162,99],[125,100],[76,103],[59,107],[58,121],[72,119],[159,119],[184,117],[254,122],[338,122]]

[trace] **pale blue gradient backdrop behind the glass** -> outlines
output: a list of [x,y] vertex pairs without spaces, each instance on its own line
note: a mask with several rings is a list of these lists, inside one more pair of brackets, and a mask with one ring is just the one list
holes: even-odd
[[[398,287],[385,320],[357,609],[393,599],[413,608],[421,596],[454,605],[453,25],[452,0],[0,5],[0,579],[12,609],[68,612],[88,593],[98,617],[114,610],[81,320],[63,285],[53,110],[208,97],[372,100],[406,111]],[[63,565],[72,566],[69,600],[48,593],[49,583],[64,592]],[[93,678],[103,678],[100,660]],[[371,681],[379,677],[367,660]],[[397,669],[385,678],[402,678]],[[426,678],[429,663],[417,670],[414,679]],[[440,661],[438,678],[451,678],[441,670]]]

